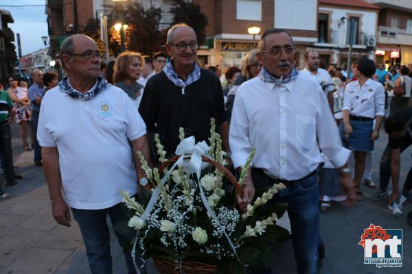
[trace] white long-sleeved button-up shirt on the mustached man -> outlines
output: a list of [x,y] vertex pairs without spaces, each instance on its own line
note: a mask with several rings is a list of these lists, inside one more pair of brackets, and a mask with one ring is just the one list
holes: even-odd
[[244,82],[233,105],[229,143],[235,167],[245,164],[255,147],[253,167],[286,180],[314,171],[322,161],[319,148],[336,167],[350,155],[321,86],[300,73],[279,86],[259,77]]

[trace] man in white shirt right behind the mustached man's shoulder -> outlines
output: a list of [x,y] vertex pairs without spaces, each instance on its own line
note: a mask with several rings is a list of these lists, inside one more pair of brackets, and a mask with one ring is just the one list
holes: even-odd
[[319,82],[319,84],[321,84],[323,91],[325,92],[325,95],[328,98],[330,109],[333,112],[334,86],[332,85],[332,78],[330,77],[328,71],[319,68],[319,53],[312,49],[310,51],[306,51],[305,62],[306,66],[305,69],[301,71],[301,74],[309,77],[314,77],[314,79],[316,79],[316,81]]

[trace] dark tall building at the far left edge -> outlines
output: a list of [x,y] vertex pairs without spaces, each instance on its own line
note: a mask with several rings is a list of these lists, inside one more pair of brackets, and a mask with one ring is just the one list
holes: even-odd
[[8,86],[8,77],[14,75],[14,66],[17,61],[14,33],[9,23],[14,23],[12,14],[0,9],[0,83]]

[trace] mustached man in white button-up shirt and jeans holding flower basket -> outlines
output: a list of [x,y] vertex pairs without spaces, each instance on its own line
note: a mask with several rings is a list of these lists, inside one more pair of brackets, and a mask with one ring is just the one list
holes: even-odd
[[295,45],[290,35],[282,29],[269,29],[262,35],[259,49],[258,60],[264,68],[258,77],[240,86],[231,116],[233,165],[240,168],[251,148],[256,149],[246,179],[248,195],[238,197],[238,203],[244,208],[254,188],[283,182],[286,189],[272,202],[288,203],[297,271],[317,273],[319,149],[336,167],[346,164],[350,151],[341,145],[319,83],[303,77],[293,66]]

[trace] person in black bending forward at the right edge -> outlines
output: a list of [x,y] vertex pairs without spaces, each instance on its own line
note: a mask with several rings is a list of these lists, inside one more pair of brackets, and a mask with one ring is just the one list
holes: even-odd
[[[385,132],[389,134],[389,142],[380,160],[380,197],[387,193],[389,179],[392,177],[393,192],[388,197],[389,205],[400,199],[399,173],[400,153],[412,145],[412,107],[406,108],[385,121]],[[404,183],[402,195],[410,196],[412,189],[412,167]],[[377,199],[376,199],[377,200]]]

